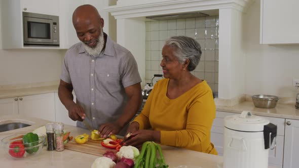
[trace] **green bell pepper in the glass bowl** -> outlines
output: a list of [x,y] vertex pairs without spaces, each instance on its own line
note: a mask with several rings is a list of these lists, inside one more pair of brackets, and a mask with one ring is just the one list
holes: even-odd
[[[38,136],[38,134],[28,133],[28,134],[24,135],[23,142],[24,142],[24,146],[26,148],[39,145],[39,136]],[[34,148],[26,149],[26,152],[31,154],[33,152],[37,152],[38,150],[39,150],[39,147],[37,146]]]

